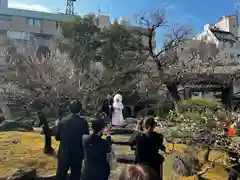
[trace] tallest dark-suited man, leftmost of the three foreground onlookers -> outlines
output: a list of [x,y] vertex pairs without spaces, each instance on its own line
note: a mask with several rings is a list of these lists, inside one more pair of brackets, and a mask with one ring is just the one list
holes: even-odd
[[71,180],[81,178],[84,150],[82,136],[89,134],[88,122],[78,114],[81,111],[81,103],[74,100],[70,103],[71,114],[63,118],[57,127],[56,140],[60,141],[58,150],[57,180],[65,180],[69,168]]

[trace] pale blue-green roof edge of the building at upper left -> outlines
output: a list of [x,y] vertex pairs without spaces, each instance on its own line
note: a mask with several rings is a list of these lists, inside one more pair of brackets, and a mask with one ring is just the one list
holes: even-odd
[[63,13],[54,14],[38,11],[30,11],[23,9],[14,9],[14,8],[2,8],[0,7],[0,14],[9,15],[9,16],[22,16],[38,19],[46,19],[52,21],[67,21],[73,18],[73,15],[67,15]]

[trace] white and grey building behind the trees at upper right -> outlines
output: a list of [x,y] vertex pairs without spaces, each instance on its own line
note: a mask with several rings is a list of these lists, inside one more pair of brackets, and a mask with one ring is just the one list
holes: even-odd
[[[220,55],[225,61],[240,61],[240,27],[236,14],[222,16],[215,24],[204,25],[203,32],[179,48],[179,58],[188,59],[193,53],[202,59],[206,55]],[[193,97],[215,98],[218,92],[194,92]],[[233,98],[240,98],[240,86],[233,86]]]

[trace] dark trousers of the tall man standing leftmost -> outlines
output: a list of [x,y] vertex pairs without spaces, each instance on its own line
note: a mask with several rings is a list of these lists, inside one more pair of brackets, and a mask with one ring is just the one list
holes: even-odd
[[70,168],[71,180],[80,180],[81,179],[81,171],[82,171],[82,161],[83,158],[74,158],[74,157],[59,157],[58,158],[58,166],[56,173],[56,180],[66,180],[67,172]]

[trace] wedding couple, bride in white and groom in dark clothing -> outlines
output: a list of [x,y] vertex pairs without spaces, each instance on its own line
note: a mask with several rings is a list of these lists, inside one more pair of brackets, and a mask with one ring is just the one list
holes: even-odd
[[103,103],[102,112],[106,115],[112,126],[122,127],[125,126],[123,108],[122,96],[120,94],[116,94],[113,99],[108,95]]

